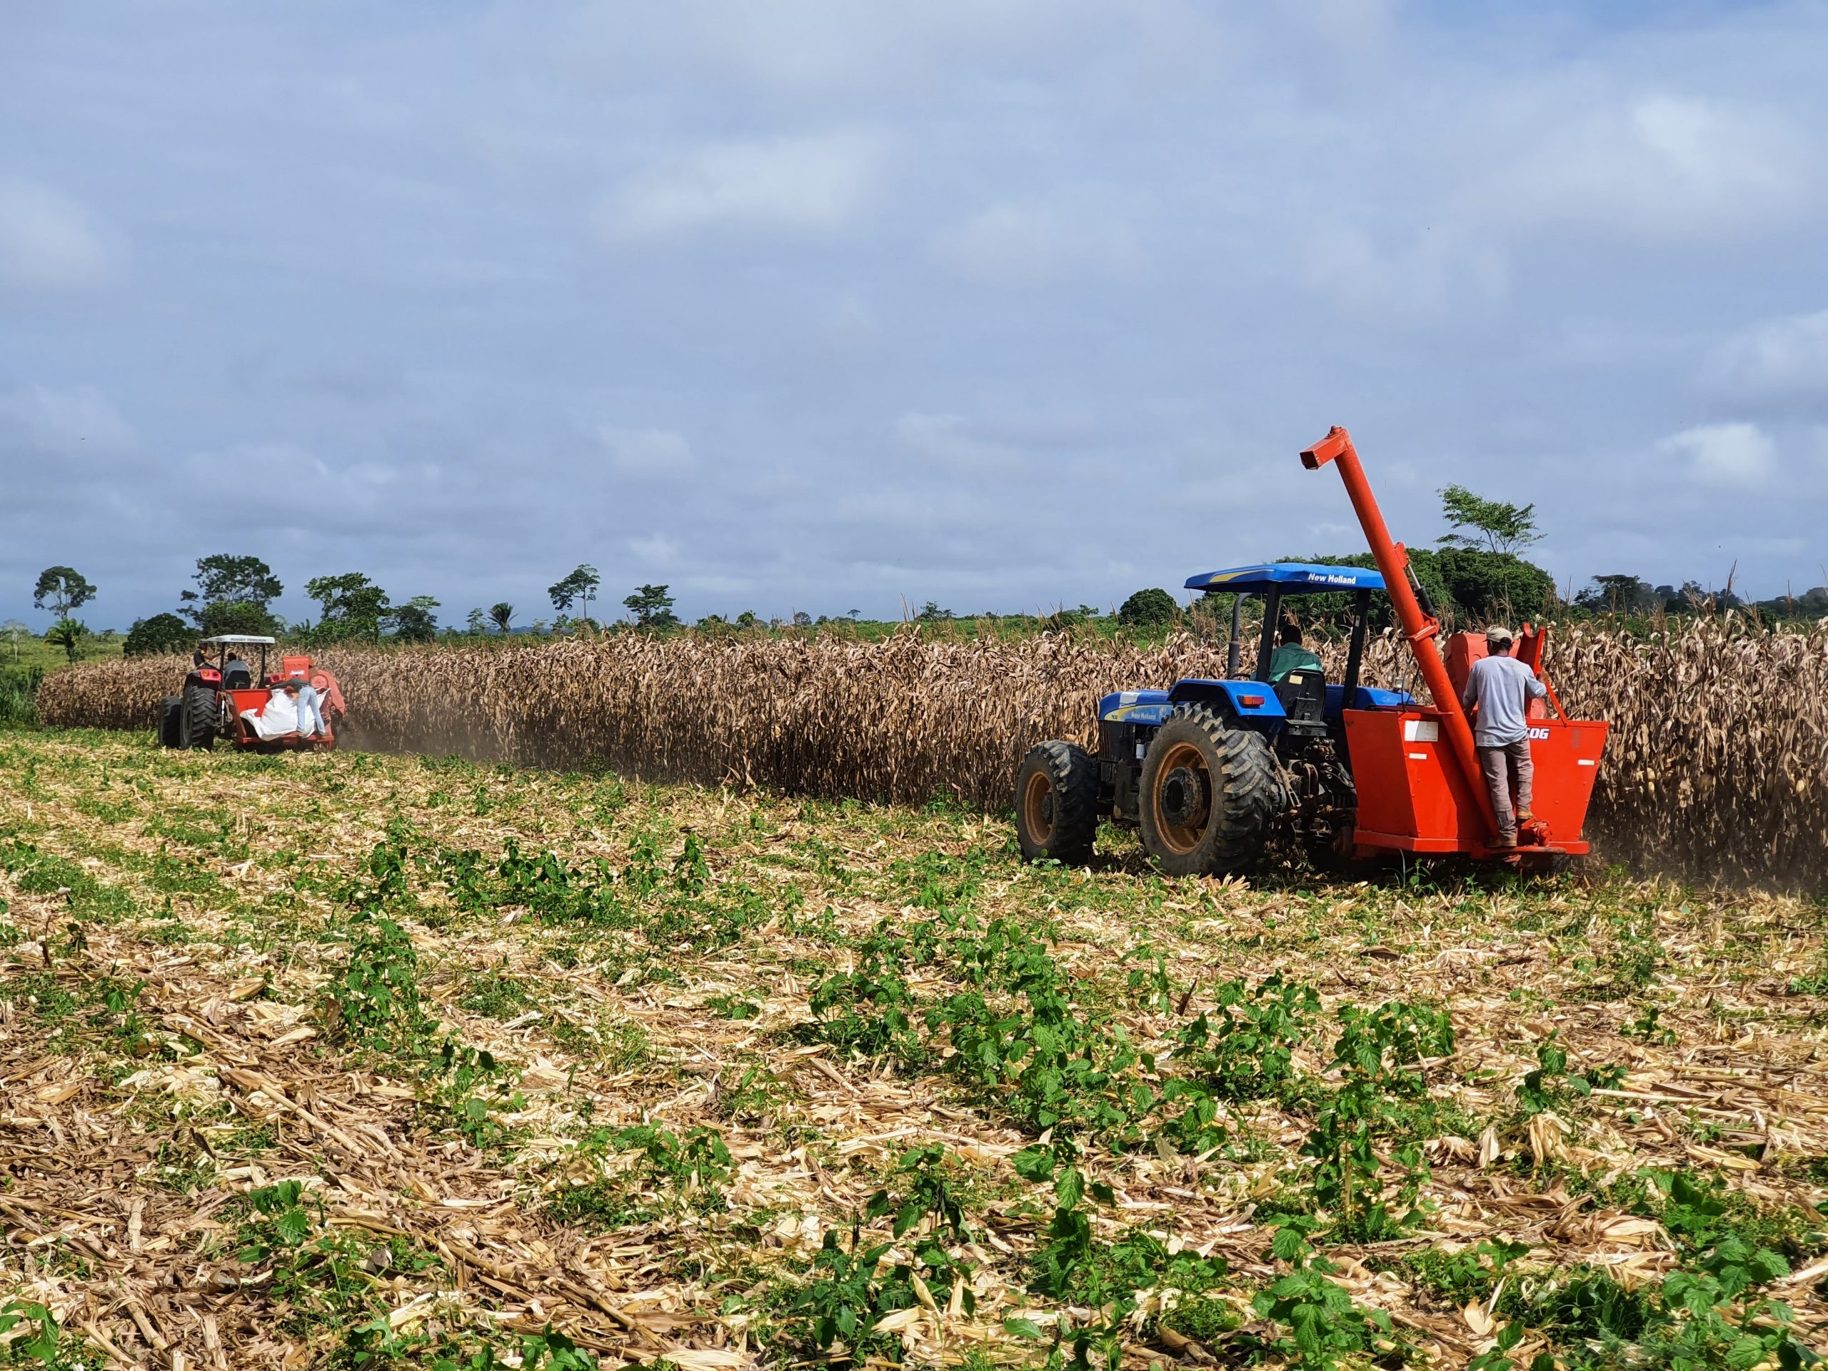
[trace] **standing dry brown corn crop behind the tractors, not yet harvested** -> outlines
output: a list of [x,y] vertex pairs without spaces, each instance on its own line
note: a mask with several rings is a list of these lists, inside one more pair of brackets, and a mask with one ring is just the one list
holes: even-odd
[[[1322,645],[1338,678],[1344,643]],[[1095,740],[1111,689],[1223,676],[1225,647],[1047,634],[881,643],[612,634],[492,651],[338,649],[345,742],[548,768],[1000,808],[1042,739]],[[152,728],[183,658],[88,664],[38,689],[53,726]],[[1735,620],[1634,638],[1563,631],[1548,673],[1570,713],[1612,722],[1589,835],[1603,856],[1696,877],[1828,885],[1828,622]],[[1366,680],[1420,695],[1386,634]]]

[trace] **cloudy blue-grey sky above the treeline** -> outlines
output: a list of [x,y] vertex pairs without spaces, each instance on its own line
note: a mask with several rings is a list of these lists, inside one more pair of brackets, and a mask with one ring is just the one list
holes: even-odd
[[[1280,11],[1269,18],[1265,11]],[[1819,4],[0,0],[0,616],[1113,605],[1536,501],[1828,581]]]

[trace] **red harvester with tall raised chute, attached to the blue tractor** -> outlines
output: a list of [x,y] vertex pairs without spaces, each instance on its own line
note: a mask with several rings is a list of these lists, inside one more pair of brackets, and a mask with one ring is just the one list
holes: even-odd
[[1442,660],[1435,640],[1440,622],[1424,607],[1426,592],[1409,567],[1402,543],[1389,536],[1371,494],[1351,435],[1334,426],[1302,453],[1302,464],[1333,464],[1366,530],[1371,556],[1384,576],[1404,642],[1428,684],[1431,706],[1408,709],[1345,709],[1345,742],[1358,813],[1351,843],[1356,852],[1462,852],[1472,857],[1515,857],[1525,865],[1552,865],[1583,856],[1587,804],[1600,773],[1607,724],[1568,718],[1554,686],[1543,675],[1548,629],[1523,625],[1517,658],[1548,689],[1556,717],[1541,702],[1530,709],[1530,760],[1536,764],[1534,819],[1519,826],[1517,848],[1497,848],[1497,815],[1479,768],[1473,726],[1461,706],[1472,664],[1486,654],[1484,634],[1448,638]]

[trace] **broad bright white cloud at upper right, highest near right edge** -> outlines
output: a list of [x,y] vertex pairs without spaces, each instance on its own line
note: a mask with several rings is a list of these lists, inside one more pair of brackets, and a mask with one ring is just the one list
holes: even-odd
[[1504,225],[1693,239],[1784,227],[1819,188],[1815,141],[1786,117],[1658,95],[1550,128],[1466,208]]

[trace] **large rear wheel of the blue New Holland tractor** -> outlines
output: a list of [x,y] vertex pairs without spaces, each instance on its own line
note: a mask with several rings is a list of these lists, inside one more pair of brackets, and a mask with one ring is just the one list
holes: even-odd
[[1250,866],[1287,808],[1287,788],[1261,733],[1188,709],[1142,755],[1142,848],[1168,876],[1228,876]]

